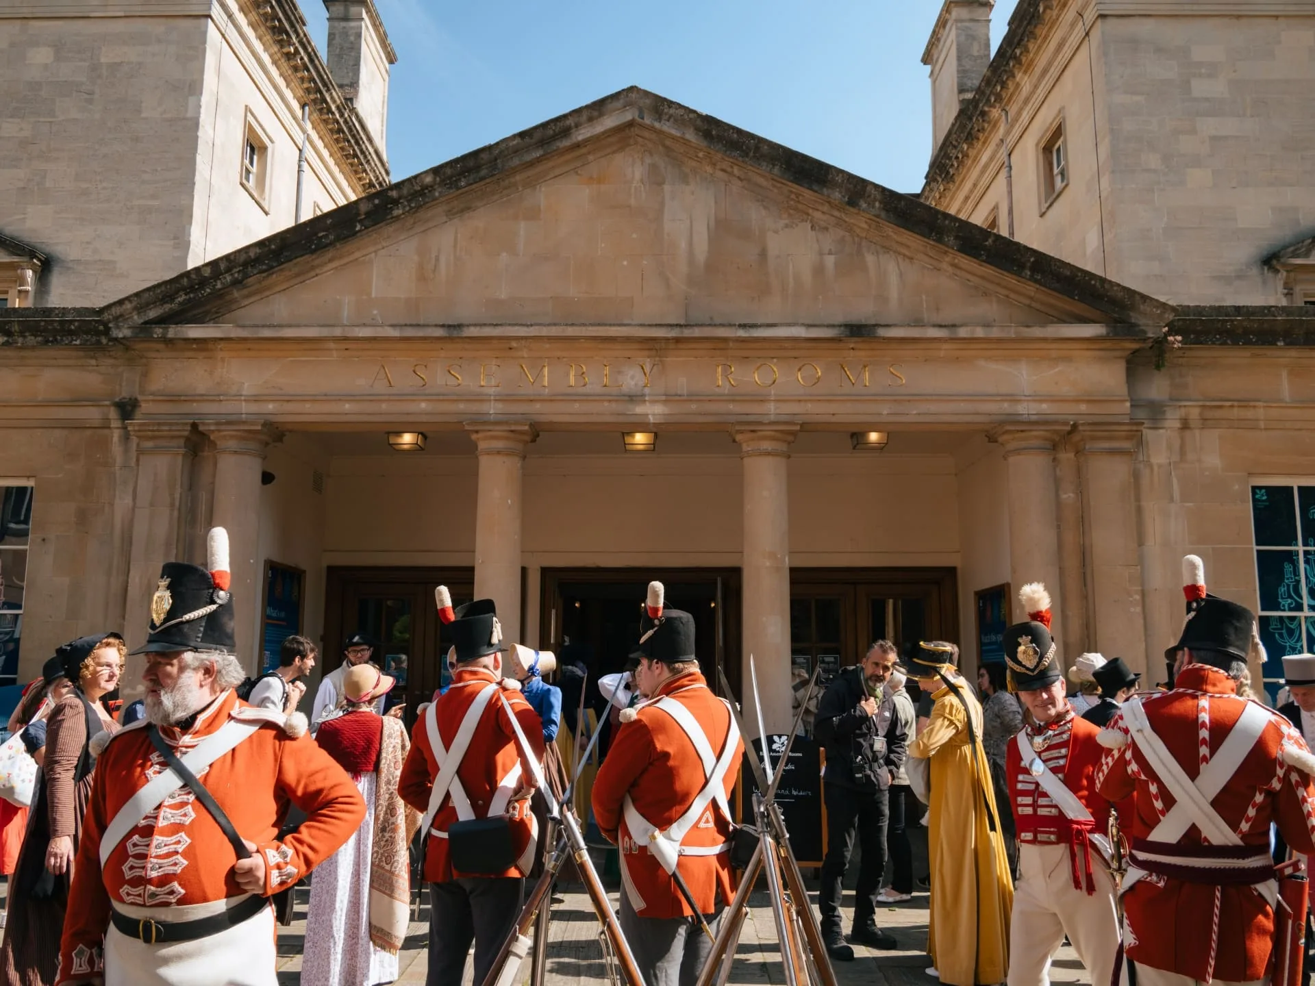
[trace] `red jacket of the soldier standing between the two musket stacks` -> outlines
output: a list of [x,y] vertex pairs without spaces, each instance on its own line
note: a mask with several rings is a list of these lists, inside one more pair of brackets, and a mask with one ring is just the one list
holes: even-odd
[[[654,698],[661,695],[671,695],[693,714],[713,753],[719,757],[730,735],[731,714],[709,690],[704,676],[696,672],[669,678]],[[723,778],[727,799],[735,789],[743,757],[744,744],[736,739],[732,766]],[[676,889],[675,878],[647,845],[633,837],[623,811],[626,794],[650,824],[665,830],[694,803],[704,782],[704,763],[693,741],[671,715],[652,705],[639,706],[635,719],[621,724],[598,768],[593,781],[593,814],[604,836],[621,848],[623,880],[630,882],[627,891],[634,891],[630,899],[642,918],[680,918],[692,911]],[[715,803],[709,803],[682,845],[717,847],[730,839],[730,819],[722,816]],[[726,903],[731,902],[735,889],[727,852],[681,856],[676,865],[702,914],[717,910],[718,890]]]

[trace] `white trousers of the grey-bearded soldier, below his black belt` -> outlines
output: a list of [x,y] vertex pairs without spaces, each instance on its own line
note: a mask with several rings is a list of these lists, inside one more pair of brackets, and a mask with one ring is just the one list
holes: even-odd
[[[117,907],[132,918],[162,910],[122,903]],[[204,910],[192,915],[180,914],[188,907],[171,907],[170,916],[189,920],[214,912],[212,904],[196,907]],[[277,986],[275,931],[271,907],[218,935],[167,945],[149,945],[110,924],[105,935],[105,986]]]

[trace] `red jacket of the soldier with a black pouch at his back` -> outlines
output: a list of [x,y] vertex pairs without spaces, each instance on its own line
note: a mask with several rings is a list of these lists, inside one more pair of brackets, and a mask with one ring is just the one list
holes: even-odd
[[[466,710],[475,701],[481,688],[488,684],[497,684],[506,695],[515,719],[525,732],[525,739],[543,763],[543,723],[539,722],[538,713],[525,701],[519,692],[519,685],[510,678],[498,678],[492,670],[484,668],[459,668],[452,676],[452,684],[447,692],[438,697],[434,707],[438,710],[438,735],[443,745],[451,748],[456,739],[456,731],[462,727]],[[397,793],[402,801],[417,811],[429,811],[429,795],[438,777],[439,763],[434,756],[433,745],[429,741],[429,710],[416,720],[412,731],[412,748],[402,764],[401,778],[397,782]],[[518,786],[526,791],[534,784],[534,774],[530,764],[519,752],[515,732],[512,728],[512,719],[497,695],[484,709],[480,723],[471,738],[471,745],[462,757],[462,765],[456,770],[456,777],[466,790],[466,797],[471,801],[471,807],[477,818],[484,818],[488,812],[493,795],[512,769],[521,764],[521,780]],[[514,799],[508,803],[508,815],[512,820],[512,835],[515,844],[519,862],[506,872],[494,874],[502,877],[523,877],[530,872],[534,853],[530,849],[538,835],[538,823],[534,812],[530,811],[530,798]],[[425,847],[425,880],[430,883],[446,883],[458,877],[475,876],[463,873],[458,861],[450,858],[447,848],[447,828],[458,820],[456,807],[451,795],[443,798],[438,812],[434,815],[433,827]],[[488,874],[483,874],[488,876]]]

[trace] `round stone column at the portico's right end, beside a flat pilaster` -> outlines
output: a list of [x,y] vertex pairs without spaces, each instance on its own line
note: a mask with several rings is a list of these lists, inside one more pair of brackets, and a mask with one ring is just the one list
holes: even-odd
[[[1005,426],[992,434],[1003,446],[1009,467],[1009,578],[1015,621],[1027,618],[1018,603],[1018,590],[1026,582],[1045,582],[1056,624],[1064,611],[1055,447],[1066,431],[1066,426],[1034,425]],[[1063,627],[1055,626],[1055,632],[1063,639]]]

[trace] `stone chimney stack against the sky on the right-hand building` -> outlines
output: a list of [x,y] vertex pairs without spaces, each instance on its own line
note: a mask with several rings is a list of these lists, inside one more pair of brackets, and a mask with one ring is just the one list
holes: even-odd
[[993,5],[994,0],[945,0],[931,29],[922,63],[931,68],[932,156],[990,64]]

